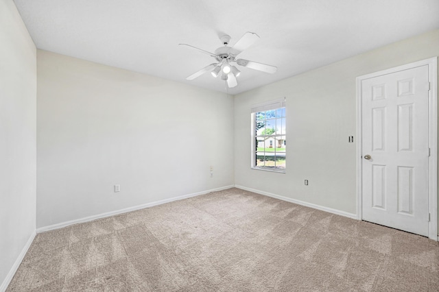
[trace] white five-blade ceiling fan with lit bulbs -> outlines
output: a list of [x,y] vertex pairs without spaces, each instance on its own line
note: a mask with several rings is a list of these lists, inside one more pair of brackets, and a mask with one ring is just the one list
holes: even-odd
[[233,63],[236,63],[239,66],[244,66],[250,69],[263,71],[266,73],[275,73],[277,71],[276,66],[271,66],[271,65],[244,60],[244,59],[236,59],[239,53],[241,53],[242,51],[253,45],[254,42],[256,42],[259,39],[259,36],[257,34],[254,34],[254,32],[246,32],[246,34],[244,34],[244,36],[242,36],[233,47],[228,47],[228,43],[230,42],[230,36],[224,35],[219,39],[222,41],[224,47],[219,47],[218,49],[215,49],[215,53],[204,51],[204,49],[199,49],[198,47],[193,47],[191,45],[179,44],[179,45],[191,47],[193,49],[197,49],[202,53],[207,53],[209,54],[209,56],[217,60],[217,63],[212,63],[208,66],[205,66],[200,71],[197,71],[192,75],[188,76],[186,80],[193,80],[196,77],[207,72],[211,72],[213,77],[217,77],[221,73],[221,79],[227,82],[228,88],[233,88],[238,85],[236,77],[238,77],[239,74],[241,73],[241,71],[239,71],[237,67],[233,65]]

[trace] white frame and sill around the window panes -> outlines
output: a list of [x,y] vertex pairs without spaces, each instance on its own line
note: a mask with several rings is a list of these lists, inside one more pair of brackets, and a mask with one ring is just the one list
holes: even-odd
[[[285,169],[270,169],[268,167],[257,167],[256,166],[256,156],[255,156],[255,148],[256,148],[256,113],[257,112],[265,112],[267,110],[274,110],[277,108],[285,108],[285,121],[286,121],[286,117],[287,117],[287,107],[286,107],[286,102],[285,102],[285,97],[281,98],[281,99],[276,99],[276,100],[272,100],[272,101],[268,101],[265,102],[263,104],[257,104],[255,106],[252,106],[250,109],[250,117],[251,117],[251,134],[250,134],[250,140],[251,140],[251,148],[250,148],[250,155],[251,155],[251,165],[250,168],[251,169],[255,169],[255,170],[261,170],[261,171],[272,171],[272,172],[277,172],[277,173],[285,173],[287,170],[286,167],[286,154],[287,154],[287,146],[285,145]],[[283,135],[285,136],[285,141],[287,140],[287,133],[285,132],[285,134]],[[276,147],[276,143],[274,145],[274,147]]]

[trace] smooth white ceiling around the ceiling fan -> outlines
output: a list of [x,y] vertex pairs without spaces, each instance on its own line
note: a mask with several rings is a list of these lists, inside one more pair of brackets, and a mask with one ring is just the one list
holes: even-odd
[[278,67],[239,67],[237,94],[439,28],[438,0],[14,0],[36,47],[226,92],[206,73],[228,34],[259,39],[239,58]]

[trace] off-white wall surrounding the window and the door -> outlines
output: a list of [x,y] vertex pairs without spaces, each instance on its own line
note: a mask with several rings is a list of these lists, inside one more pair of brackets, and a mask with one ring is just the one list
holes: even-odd
[[[355,78],[438,55],[435,30],[236,95],[235,184],[355,214],[356,143],[348,143],[356,134]],[[280,97],[287,172],[250,169],[250,107]]]

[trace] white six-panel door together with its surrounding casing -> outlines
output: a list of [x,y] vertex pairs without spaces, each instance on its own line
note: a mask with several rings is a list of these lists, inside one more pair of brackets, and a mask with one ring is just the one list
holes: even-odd
[[357,78],[359,219],[434,240],[436,64],[433,58]]

